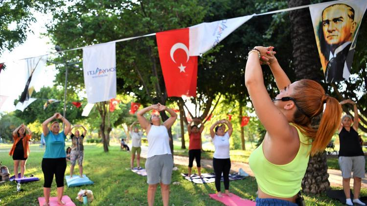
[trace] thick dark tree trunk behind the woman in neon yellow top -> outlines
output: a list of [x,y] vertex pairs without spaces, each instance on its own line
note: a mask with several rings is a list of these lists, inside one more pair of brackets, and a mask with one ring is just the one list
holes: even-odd
[[[307,4],[310,4],[310,0],[288,0],[289,7]],[[291,11],[289,18],[292,28],[292,60],[296,78],[320,82],[323,75],[309,9]],[[303,191],[313,194],[325,191],[330,185],[328,177],[326,153],[310,157],[306,174],[302,180]]]

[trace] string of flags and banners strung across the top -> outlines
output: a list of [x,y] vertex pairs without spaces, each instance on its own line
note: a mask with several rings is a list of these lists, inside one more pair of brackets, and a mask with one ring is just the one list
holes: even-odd
[[[347,80],[357,42],[361,20],[367,9],[366,0],[337,0],[252,14],[213,22],[203,22],[187,28],[126,38],[81,47],[83,49],[83,74],[88,103],[109,101],[116,97],[115,43],[156,35],[163,79],[168,97],[196,96],[198,56],[224,40],[239,26],[254,16],[309,8],[322,69],[327,82]],[[343,12],[341,12],[343,11]],[[343,13],[343,17],[339,17]],[[339,15],[339,16],[338,16]],[[334,20],[342,18],[345,25],[339,33],[333,29]],[[345,37],[345,38],[341,38]],[[76,50],[75,48],[71,50]],[[69,51],[69,50],[68,50]],[[25,59],[28,78],[20,102],[26,104],[34,90],[32,79],[44,65],[47,55]],[[4,63],[0,64],[0,72]],[[317,71],[315,71],[317,72]],[[114,108],[114,105],[112,105]],[[110,107],[111,109],[111,107]],[[134,109],[131,110],[132,113]]]

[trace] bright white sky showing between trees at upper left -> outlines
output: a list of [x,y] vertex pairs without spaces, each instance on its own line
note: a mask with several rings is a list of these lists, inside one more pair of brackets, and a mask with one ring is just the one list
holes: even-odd
[[[5,51],[0,56],[0,62],[5,62],[6,69],[0,73],[0,95],[8,96],[2,104],[0,112],[10,112],[15,110],[14,100],[21,95],[26,83],[26,64],[23,58],[35,57],[54,52],[48,37],[42,36],[46,32],[46,22],[51,16],[35,14],[36,22],[32,23],[30,29],[34,32],[28,33],[26,41],[14,48],[11,52]],[[52,86],[55,79],[55,66],[50,65],[41,72],[40,79],[35,81],[35,90],[38,91],[42,86]]]

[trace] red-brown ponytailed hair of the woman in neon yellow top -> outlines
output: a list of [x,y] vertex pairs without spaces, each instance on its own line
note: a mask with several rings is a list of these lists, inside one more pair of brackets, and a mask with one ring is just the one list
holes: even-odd
[[[293,122],[304,135],[313,140],[311,155],[322,152],[340,125],[342,107],[335,98],[325,95],[322,86],[313,80],[298,81],[292,97],[307,116],[310,117],[297,110],[294,114]],[[326,106],[322,114],[324,103],[326,103]],[[313,128],[311,124],[321,114],[319,128]]]

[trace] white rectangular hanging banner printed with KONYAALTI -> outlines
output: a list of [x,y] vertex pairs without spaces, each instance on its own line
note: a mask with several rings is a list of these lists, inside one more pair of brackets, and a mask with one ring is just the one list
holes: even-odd
[[83,48],[83,71],[88,103],[109,101],[115,98],[115,42]]

